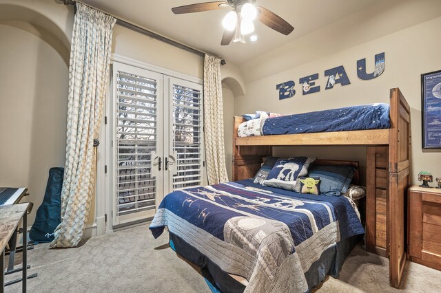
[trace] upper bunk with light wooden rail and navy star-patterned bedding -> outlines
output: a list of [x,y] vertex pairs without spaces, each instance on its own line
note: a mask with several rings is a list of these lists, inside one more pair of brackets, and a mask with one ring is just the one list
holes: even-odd
[[[384,111],[386,107],[378,106],[374,110],[376,111],[376,118],[380,122],[380,129],[367,129],[367,130],[350,130],[350,131],[329,131],[329,132],[308,132],[308,133],[296,133],[296,134],[281,134],[281,135],[263,135],[263,136],[247,136],[239,137],[238,129],[239,125],[245,122],[243,117],[234,117],[234,146],[322,146],[322,145],[334,145],[334,146],[372,146],[372,145],[388,145],[391,144],[391,140],[397,140],[400,128],[406,128],[406,132],[410,131],[410,107],[407,100],[402,96],[400,89],[393,88],[390,91],[390,103],[389,103],[389,118],[384,119]],[[348,108],[345,108],[348,109]],[[335,111],[340,109],[331,110],[331,115],[338,115]],[[358,116],[360,111],[353,111],[353,115]],[[387,114],[387,113],[386,113]],[[305,114],[298,114],[307,116]],[[370,116],[366,116],[370,117]],[[269,118],[282,120],[280,118]],[[289,127],[289,126],[288,126]],[[388,127],[388,128],[386,128]],[[390,128],[389,128],[390,127]],[[320,129],[320,127],[318,127]],[[332,124],[329,124],[328,129],[333,129]],[[335,127],[337,129],[343,129],[342,127]],[[351,126],[349,125],[349,128]],[[409,128],[409,129],[408,129]],[[285,129],[287,129],[285,125]],[[271,129],[269,129],[271,131]],[[269,132],[267,131],[267,132]],[[269,132],[271,133],[271,132]],[[392,138],[392,139],[391,139]]]

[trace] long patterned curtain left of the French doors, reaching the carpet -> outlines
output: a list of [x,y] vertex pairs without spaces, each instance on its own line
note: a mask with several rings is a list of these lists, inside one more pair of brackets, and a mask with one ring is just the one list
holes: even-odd
[[94,193],[94,139],[98,136],[107,87],[116,19],[76,2],[70,51],[68,131],[61,191],[61,224],[54,247],[76,246],[88,222]]

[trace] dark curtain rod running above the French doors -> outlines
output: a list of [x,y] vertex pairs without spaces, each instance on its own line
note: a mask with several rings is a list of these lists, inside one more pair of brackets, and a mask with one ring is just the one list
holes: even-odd
[[[60,0],[60,1],[63,1],[64,5],[74,6],[75,11],[76,11],[76,5],[75,5],[76,1],[73,1],[73,0]],[[97,8],[95,8],[95,9],[97,9]],[[101,11],[103,11],[103,10],[101,10]],[[103,11],[103,12],[106,14],[110,14],[105,11]],[[110,14],[110,15],[112,15],[112,14]],[[133,30],[134,32],[139,32],[140,34],[144,34],[145,36],[150,36],[153,39],[156,39],[156,40],[161,41],[163,43],[167,43],[167,44],[172,45],[174,47],[178,47],[181,50],[185,50],[187,52],[196,54],[198,56],[201,56],[201,57],[205,56],[205,52],[202,52],[202,51],[196,50],[192,47],[189,47],[187,45],[178,43],[176,41],[173,41],[172,39],[168,39],[165,36],[161,36],[160,34],[156,34],[155,32],[152,32],[150,30],[145,30],[145,28],[141,28],[138,25],[134,25],[133,23],[129,23],[127,21],[124,21],[123,19],[120,19],[119,17],[115,17],[114,15],[112,15],[112,17],[114,17],[116,19],[116,24],[121,25],[123,28],[128,28],[129,30]],[[221,59],[220,60],[221,65],[227,64],[227,62],[223,58],[220,58],[220,59]]]

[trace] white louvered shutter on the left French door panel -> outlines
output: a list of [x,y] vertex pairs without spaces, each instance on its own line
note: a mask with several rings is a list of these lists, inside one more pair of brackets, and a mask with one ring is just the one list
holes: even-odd
[[116,72],[118,217],[156,206],[158,182],[152,176],[152,153],[158,142],[157,86],[154,78]]

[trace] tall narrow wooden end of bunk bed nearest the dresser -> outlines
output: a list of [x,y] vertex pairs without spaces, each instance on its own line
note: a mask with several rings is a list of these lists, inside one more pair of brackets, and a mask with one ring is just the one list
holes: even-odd
[[407,189],[410,186],[411,112],[400,89],[391,89],[389,129],[389,188],[387,193],[387,245],[389,281],[400,286],[406,264]]

